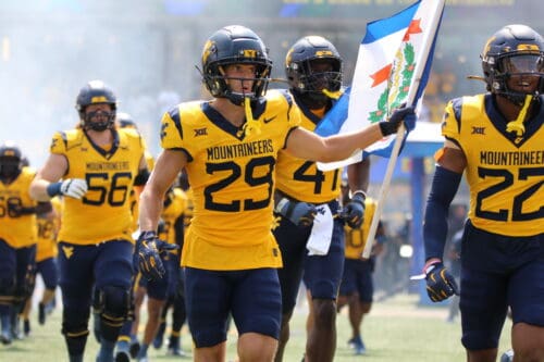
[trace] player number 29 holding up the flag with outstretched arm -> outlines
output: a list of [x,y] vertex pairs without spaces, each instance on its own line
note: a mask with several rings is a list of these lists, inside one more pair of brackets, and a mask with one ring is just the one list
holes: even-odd
[[239,359],[272,361],[281,323],[276,269],[282,258],[271,232],[277,152],[285,148],[313,161],[344,159],[396,133],[413,110],[397,110],[390,122],[350,135],[321,138],[299,127],[290,97],[264,96],[272,62],[249,28],[215,32],[201,61],[213,99],[181,103],[163,115],[164,150],[140,198],[140,272],[151,278],[164,274],[157,225],[164,194],[185,167],[195,209],[182,265],[195,360],[224,360],[232,313]]

